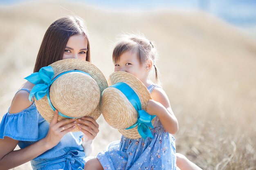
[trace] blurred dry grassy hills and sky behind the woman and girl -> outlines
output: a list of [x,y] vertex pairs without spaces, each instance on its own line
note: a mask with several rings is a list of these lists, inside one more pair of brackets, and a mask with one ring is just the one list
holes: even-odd
[[[177,152],[204,170],[256,170],[255,0],[0,0],[0,120],[32,73],[48,26],[67,15],[85,20],[92,63],[106,78],[118,35],[155,42],[179,122]],[[121,137],[102,116],[97,122],[92,155]]]

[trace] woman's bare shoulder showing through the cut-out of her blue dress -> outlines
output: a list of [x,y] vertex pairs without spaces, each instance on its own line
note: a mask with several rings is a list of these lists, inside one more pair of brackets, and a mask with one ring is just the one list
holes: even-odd
[[25,108],[28,108],[33,102],[29,101],[29,93],[27,91],[18,91],[11,102],[9,113],[20,113]]

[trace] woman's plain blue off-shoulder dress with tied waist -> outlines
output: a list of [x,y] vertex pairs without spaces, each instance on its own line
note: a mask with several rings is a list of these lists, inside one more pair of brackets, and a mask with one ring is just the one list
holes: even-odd
[[[25,90],[28,93],[27,89]],[[18,146],[25,148],[43,139],[49,130],[49,123],[38,113],[33,102],[31,106],[19,113],[3,116],[0,124],[0,139],[11,137],[18,140]],[[42,155],[31,160],[33,170],[83,170],[85,152],[82,146],[82,132],[69,132]]]

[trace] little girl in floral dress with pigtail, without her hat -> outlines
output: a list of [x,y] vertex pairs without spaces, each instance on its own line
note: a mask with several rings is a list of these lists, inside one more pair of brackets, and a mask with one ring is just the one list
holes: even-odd
[[[154,128],[151,129],[151,132],[157,140],[150,137],[146,139],[128,139],[122,136],[119,143],[111,143],[107,151],[101,152],[97,158],[85,163],[85,170],[113,170],[113,168],[115,170],[176,169],[175,139],[169,134],[177,132],[178,122],[164,90],[150,81],[150,70],[154,68],[156,81],[158,82],[158,72],[155,66],[156,57],[157,51],[152,42],[137,35],[130,35],[121,39],[115,46],[112,55],[115,71],[131,73],[151,93],[153,100],[149,100],[146,112],[150,115],[156,115]],[[167,148],[164,147],[168,144],[171,145]],[[150,149],[150,152],[148,152],[148,149]],[[127,161],[124,162],[124,159],[120,159],[120,156],[128,155],[133,151],[135,152],[132,153],[134,156],[129,156]],[[147,152],[143,155],[148,156],[139,159],[143,152]],[[139,155],[135,156],[136,154]],[[178,154],[177,162],[182,165],[182,169],[200,169],[181,154]]]

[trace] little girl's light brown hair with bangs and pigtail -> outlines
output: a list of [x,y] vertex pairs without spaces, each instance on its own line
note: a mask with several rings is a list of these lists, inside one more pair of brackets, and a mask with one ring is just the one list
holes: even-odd
[[124,35],[115,45],[112,54],[113,62],[118,61],[120,56],[127,51],[137,53],[140,64],[146,64],[148,60],[152,61],[155,68],[155,79],[158,83],[158,71],[155,65],[158,54],[153,43],[142,35]]

